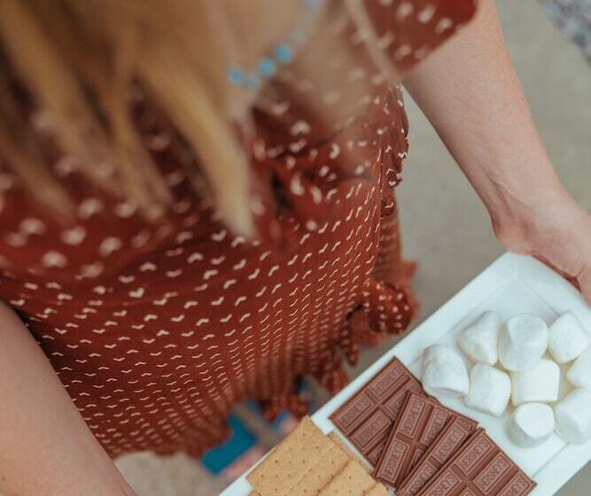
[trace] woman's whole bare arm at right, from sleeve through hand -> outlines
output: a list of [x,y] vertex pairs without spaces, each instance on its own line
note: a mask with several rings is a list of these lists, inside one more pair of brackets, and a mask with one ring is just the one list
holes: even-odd
[[564,190],[540,142],[494,0],[481,0],[476,19],[405,86],[482,198],[501,242],[571,276],[591,303],[591,217]]

